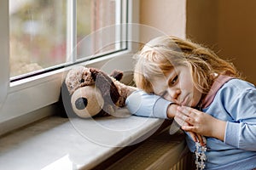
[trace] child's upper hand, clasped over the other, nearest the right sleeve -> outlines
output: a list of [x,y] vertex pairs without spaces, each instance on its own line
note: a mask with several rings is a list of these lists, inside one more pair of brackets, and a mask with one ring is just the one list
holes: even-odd
[[183,130],[224,140],[226,122],[186,106],[177,107],[176,116],[188,123]]

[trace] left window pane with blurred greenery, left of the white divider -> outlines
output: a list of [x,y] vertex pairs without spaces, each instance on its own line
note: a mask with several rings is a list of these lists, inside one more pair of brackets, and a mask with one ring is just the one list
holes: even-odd
[[66,61],[67,0],[9,0],[10,77]]

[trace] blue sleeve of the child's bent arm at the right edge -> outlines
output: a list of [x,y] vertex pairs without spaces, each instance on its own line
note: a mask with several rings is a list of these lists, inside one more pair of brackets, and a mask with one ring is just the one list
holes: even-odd
[[225,93],[230,97],[224,105],[234,121],[227,122],[224,142],[243,150],[256,150],[256,88],[236,80],[230,83],[233,88]]

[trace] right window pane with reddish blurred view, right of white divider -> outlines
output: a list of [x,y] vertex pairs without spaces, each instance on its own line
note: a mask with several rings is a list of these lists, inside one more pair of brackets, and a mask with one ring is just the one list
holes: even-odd
[[121,0],[77,1],[77,59],[122,49],[122,5]]

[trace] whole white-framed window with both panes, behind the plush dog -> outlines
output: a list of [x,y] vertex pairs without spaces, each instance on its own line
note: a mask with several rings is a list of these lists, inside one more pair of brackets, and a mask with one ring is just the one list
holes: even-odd
[[68,68],[127,59],[137,8],[136,0],[3,0],[0,127],[55,103]]

